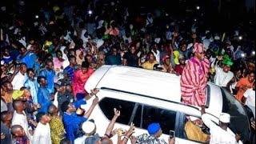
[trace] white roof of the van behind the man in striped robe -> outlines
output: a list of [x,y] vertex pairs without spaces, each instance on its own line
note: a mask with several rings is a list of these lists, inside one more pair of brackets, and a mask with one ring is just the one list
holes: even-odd
[[98,68],[86,82],[86,91],[95,87],[181,102],[180,77],[156,70],[104,65]]

